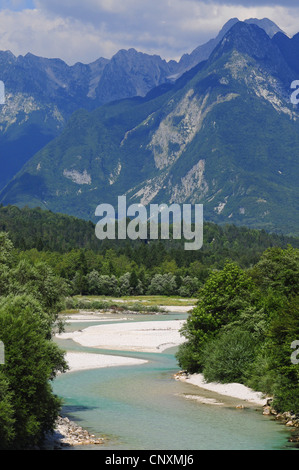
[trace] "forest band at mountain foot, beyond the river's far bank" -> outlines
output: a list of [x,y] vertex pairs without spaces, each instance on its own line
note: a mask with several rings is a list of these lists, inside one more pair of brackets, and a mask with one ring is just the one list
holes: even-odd
[[[9,234],[19,256],[47,262],[77,294],[130,294],[132,286],[123,276],[134,272],[135,293],[193,295],[209,272],[227,260],[247,269],[269,247],[299,247],[296,238],[212,223],[204,224],[203,248],[193,252],[184,251],[183,240],[100,241],[92,222],[14,206],[0,208],[0,231]],[[161,275],[163,282],[156,277]]]

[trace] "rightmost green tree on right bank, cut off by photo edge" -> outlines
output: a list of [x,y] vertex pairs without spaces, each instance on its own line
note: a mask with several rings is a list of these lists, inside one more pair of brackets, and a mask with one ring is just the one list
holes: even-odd
[[299,250],[270,248],[252,269],[263,293],[268,328],[249,384],[275,397],[278,411],[299,411],[299,367],[291,344],[299,340]]

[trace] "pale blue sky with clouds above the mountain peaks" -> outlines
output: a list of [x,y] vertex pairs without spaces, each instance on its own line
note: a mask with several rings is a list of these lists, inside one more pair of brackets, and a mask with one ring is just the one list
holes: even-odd
[[299,32],[299,1],[0,0],[0,50],[72,64],[134,47],[178,60],[232,17],[267,17],[292,36]]

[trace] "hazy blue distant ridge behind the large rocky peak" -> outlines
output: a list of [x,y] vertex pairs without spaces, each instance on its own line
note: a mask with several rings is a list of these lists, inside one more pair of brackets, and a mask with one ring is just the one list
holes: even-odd
[[[271,21],[251,19],[268,34],[280,31]],[[6,105],[0,107],[0,190],[42,147],[58,136],[72,113],[102,104],[145,96],[154,87],[172,82],[206,60],[237,18],[219,35],[186,54],[179,62],[120,50],[110,60],[67,65],[60,59],[0,51],[0,80],[6,87]]]

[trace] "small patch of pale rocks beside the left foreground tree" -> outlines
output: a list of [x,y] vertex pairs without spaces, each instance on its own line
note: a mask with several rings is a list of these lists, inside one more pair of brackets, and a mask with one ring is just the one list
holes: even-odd
[[68,447],[103,445],[104,438],[96,437],[67,417],[57,419],[53,434],[47,436],[39,450],[63,450]]

